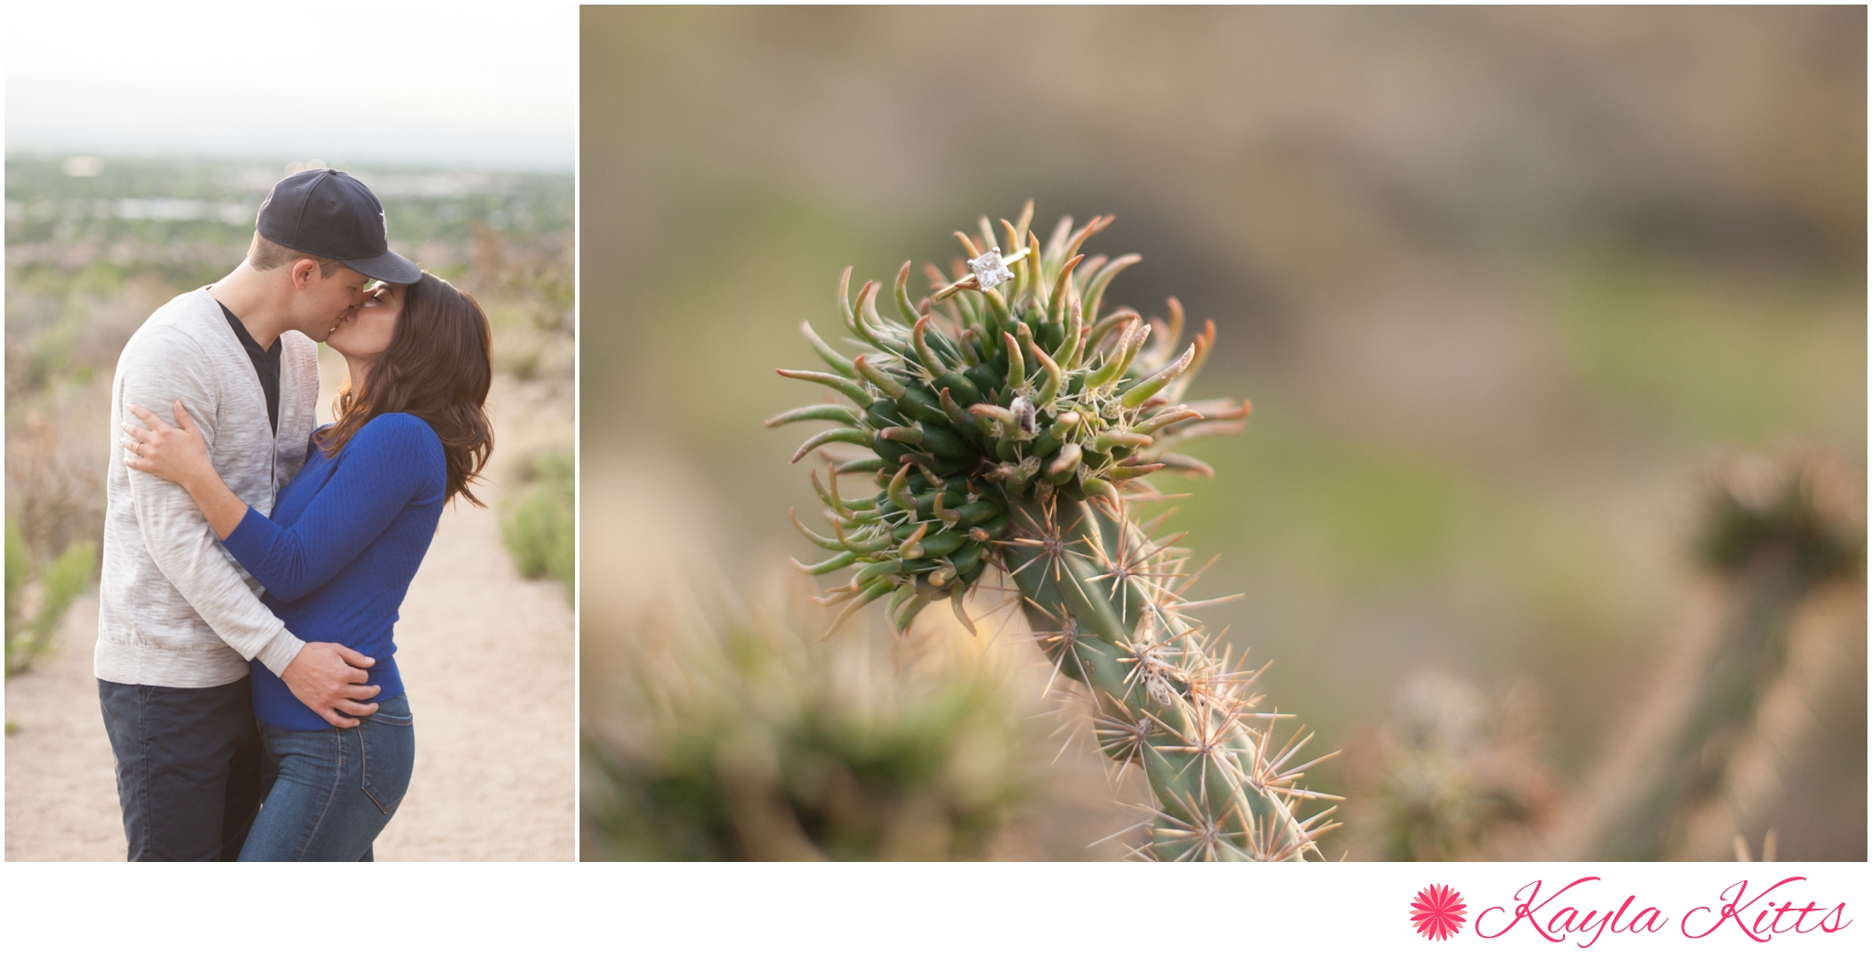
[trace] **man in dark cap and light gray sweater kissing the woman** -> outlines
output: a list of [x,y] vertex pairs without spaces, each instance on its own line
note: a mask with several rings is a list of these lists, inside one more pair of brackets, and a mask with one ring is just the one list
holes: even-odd
[[247,258],[157,309],[124,346],[110,389],[97,696],[116,752],[131,861],[234,861],[260,808],[262,750],[247,660],[339,728],[376,711],[374,664],[300,642],[221,546],[182,486],[124,466],[125,408],[174,415],[180,399],[215,472],[247,505],[305,464],[318,346],[371,279],[421,271],[389,251],[384,208],[358,180],[305,170],[260,204]]

